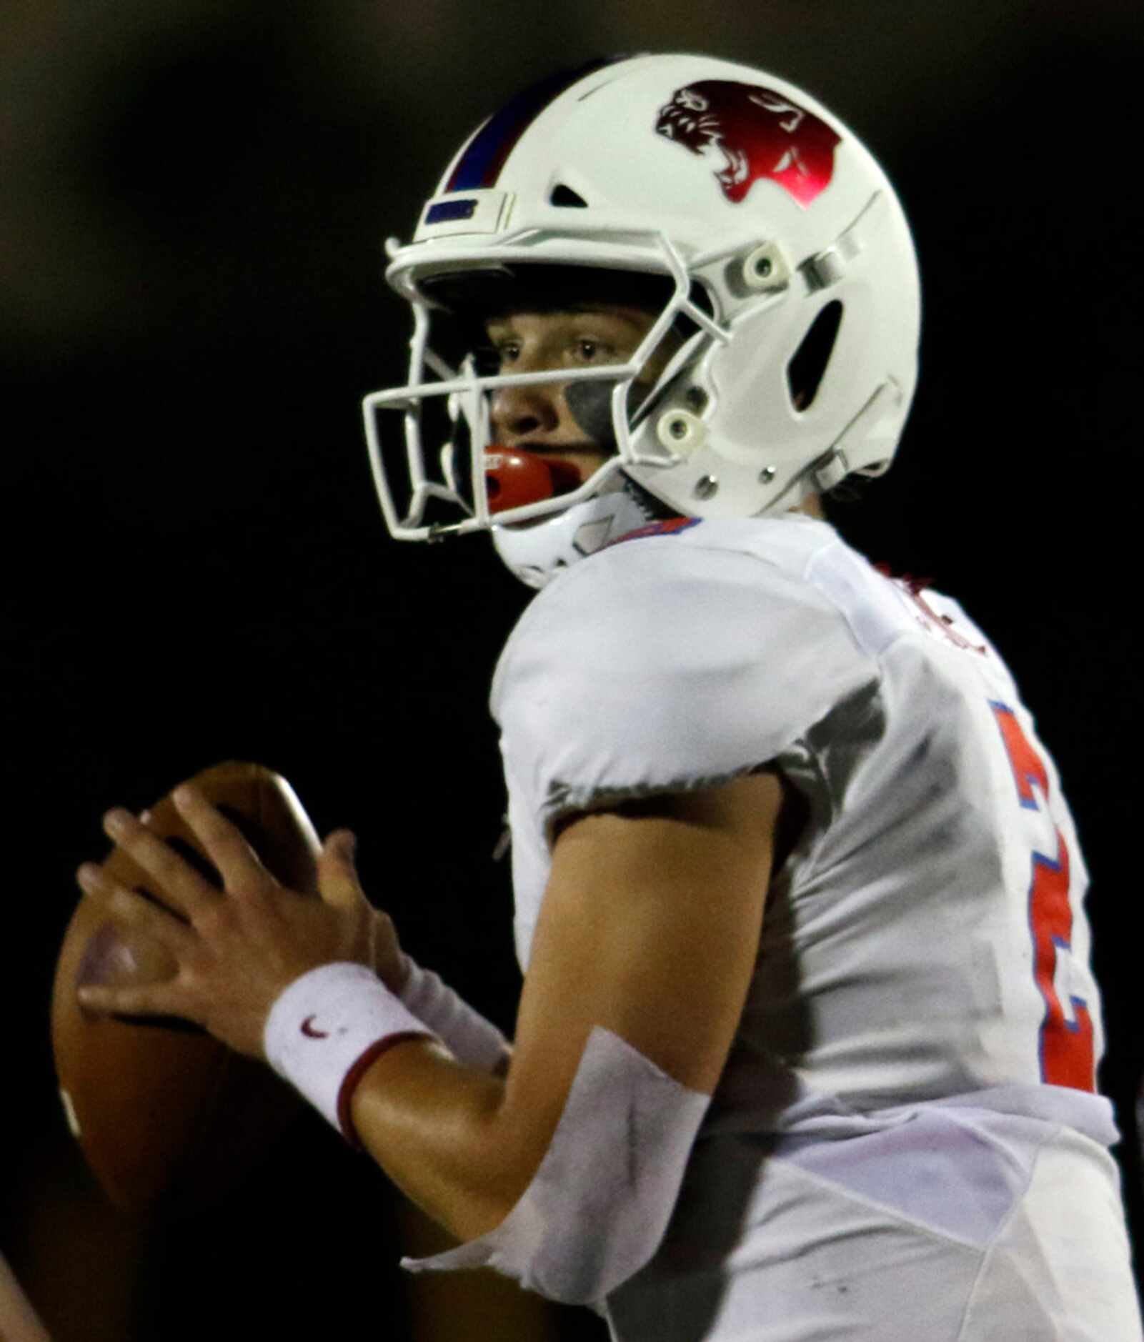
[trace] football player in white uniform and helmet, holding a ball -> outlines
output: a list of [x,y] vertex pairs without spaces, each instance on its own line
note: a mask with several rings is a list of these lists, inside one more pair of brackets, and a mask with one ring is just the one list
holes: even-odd
[[225,892],[111,813],[189,923],[83,868],[181,964],[89,1005],[266,1056],[463,1241],[410,1268],[622,1342],[1139,1342],[1057,770],[959,604],[821,507],[915,388],[884,172],[775,75],[597,62],[477,129],[388,275],[389,529],[490,531],[540,589],[492,686],[515,1040],[401,951],[347,833],[307,905],[193,792]]

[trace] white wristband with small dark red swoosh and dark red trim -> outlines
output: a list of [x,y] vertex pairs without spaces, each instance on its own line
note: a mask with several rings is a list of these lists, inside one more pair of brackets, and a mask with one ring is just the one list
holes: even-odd
[[425,1025],[365,965],[319,965],[279,994],[263,1033],[270,1066],[361,1146],[350,1100],[366,1068]]

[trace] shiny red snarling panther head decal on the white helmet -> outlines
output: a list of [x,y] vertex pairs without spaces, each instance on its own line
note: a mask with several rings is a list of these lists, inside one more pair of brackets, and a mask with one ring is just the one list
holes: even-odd
[[693,154],[722,149],[727,162],[715,177],[736,205],[759,177],[809,205],[830,185],[841,138],[790,98],[731,79],[700,79],[680,89],[660,109],[656,130]]

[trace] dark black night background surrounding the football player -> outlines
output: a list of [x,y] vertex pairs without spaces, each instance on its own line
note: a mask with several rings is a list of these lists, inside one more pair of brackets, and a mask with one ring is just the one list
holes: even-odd
[[[701,50],[802,83],[900,189],[923,267],[920,391],[895,470],[834,519],[963,601],[1062,773],[1093,876],[1101,1080],[1139,1236],[1140,32],[1110,4],[393,8],[0,13],[3,1009],[16,1023],[0,1248],[58,1342],[363,1322],[475,1338],[465,1310],[495,1307],[459,1295],[452,1323],[414,1322],[396,1260],[421,1231],[317,1118],[209,1216],[170,1232],[113,1216],[59,1111],[47,1001],[72,871],[106,849],[102,811],[248,758],[294,782],[319,831],[358,832],[366,886],[409,950],[511,1031],[485,701],[528,593],[481,538],[388,538],[358,403],[404,381],[384,238],[408,236],[460,140],[520,85],[633,50]],[[488,1335],[599,1326],[553,1311]]]

